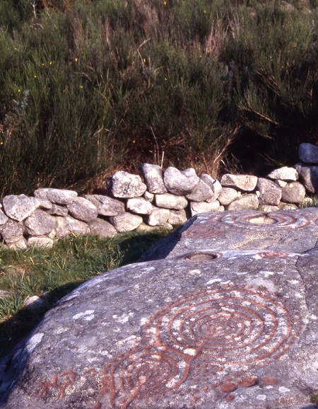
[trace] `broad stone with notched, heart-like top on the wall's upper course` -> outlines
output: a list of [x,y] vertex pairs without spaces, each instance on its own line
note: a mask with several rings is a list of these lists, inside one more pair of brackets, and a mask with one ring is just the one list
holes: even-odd
[[196,190],[199,184],[199,178],[193,168],[185,171],[178,171],[176,168],[167,168],[163,180],[167,191],[172,195],[189,195]]

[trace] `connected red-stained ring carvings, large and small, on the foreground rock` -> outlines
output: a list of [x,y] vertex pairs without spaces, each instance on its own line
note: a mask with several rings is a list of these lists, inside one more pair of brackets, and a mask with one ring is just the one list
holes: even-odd
[[[250,286],[209,287],[153,313],[141,327],[139,345],[101,370],[83,370],[81,376],[99,379],[100,398],[104,396],[116,409],[180,388],[184,392],[192,384],[204,391],[213,383],[229,393],[234,386],[256,384],[256,376],[242,374],[279,359],[300,330],[299,313],[282,297]],[[241,379],[233,382],[231,373],[241,374]],[[262,381],[269,384],[270,379]],[[39,396],[45,398],[53,388],[63,398],[66,386],[75,381],[73,371],[54,375],[41,384]]]

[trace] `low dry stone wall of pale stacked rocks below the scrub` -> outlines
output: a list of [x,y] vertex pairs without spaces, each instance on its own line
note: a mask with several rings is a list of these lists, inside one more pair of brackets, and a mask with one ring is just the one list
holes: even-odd
[[302,144],[300,162],[266,178],[223,175],[216,180],[145,163],[141,176],[124,171],[107,180],[107,195],[78,197],[72,190],[41,188],[33,197],[1,200],[0,238],[8,248],[52,246],[67,234],[112,237],[125,231],[172,229],[199,213],[295,209],[318,192],[318,146]]

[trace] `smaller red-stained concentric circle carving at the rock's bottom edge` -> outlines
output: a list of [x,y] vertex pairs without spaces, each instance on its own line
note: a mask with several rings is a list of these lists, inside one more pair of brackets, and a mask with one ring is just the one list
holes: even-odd
[[117,360],[112,378],[117,393],[143,399],[176,388],[187,377],[189,364],[169,347],[140,347]]

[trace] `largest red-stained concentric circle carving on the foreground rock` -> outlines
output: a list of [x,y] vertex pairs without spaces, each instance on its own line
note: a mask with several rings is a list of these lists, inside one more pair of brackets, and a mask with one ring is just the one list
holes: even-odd
[[285,350],[298,334],[293,310],[267,292],[232,287],[193,294],[160,311],[149,331],[211,364],[247,364]]

